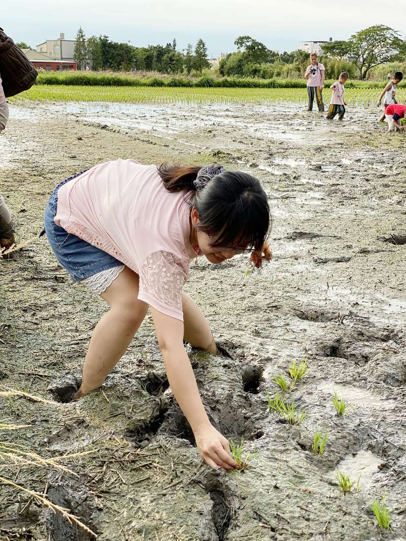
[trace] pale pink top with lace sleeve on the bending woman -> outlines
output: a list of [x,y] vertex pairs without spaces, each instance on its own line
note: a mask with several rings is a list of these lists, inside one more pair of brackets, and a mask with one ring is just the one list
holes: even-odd
[[185,196],[168,192],[154,165],[110,161],[60,188],[55,223],[139,274],[138,298],[183,321],[182,287],[200,255]]

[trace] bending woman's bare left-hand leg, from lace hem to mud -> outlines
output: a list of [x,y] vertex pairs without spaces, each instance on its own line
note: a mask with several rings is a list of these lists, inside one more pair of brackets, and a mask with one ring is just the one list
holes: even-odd
[[82,385],[74,398],[100,387],[125,353],[148,311],[137,299],[139,276],[126,267],[101,296],[110,305],[91,335]]

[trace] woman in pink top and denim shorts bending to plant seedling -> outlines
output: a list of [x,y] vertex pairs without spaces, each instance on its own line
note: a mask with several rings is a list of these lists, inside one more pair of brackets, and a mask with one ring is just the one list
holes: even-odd
[[182,292],[189,263],[221,263],[253,251],[270,259],[267,196],[258,180],[221,166],[101,163],[64,180],[45,209],[45,232],[74,282],[99,294],[109,311],[96,325],[73,399],[100,387],[152,312],[169,384],[213,468],[237,464],[209,422],[184,340],[218,353],[200,308]]

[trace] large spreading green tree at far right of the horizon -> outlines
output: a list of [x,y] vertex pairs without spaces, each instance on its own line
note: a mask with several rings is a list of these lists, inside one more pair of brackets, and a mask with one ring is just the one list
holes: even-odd
[[396,60],[405,50],[399,32],[383,24],[360,30],[349,42],[349,54],[356,58],[360,79],[365,79],[371,68]]

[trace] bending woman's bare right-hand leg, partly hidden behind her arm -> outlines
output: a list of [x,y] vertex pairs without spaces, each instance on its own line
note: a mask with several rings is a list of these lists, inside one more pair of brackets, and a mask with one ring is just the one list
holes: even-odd
[[217,346],[208,322],[198,305],[186,293],[182,293],[182,307],[184,311],[184,339],[192,346],[201,347],[216,354]]

